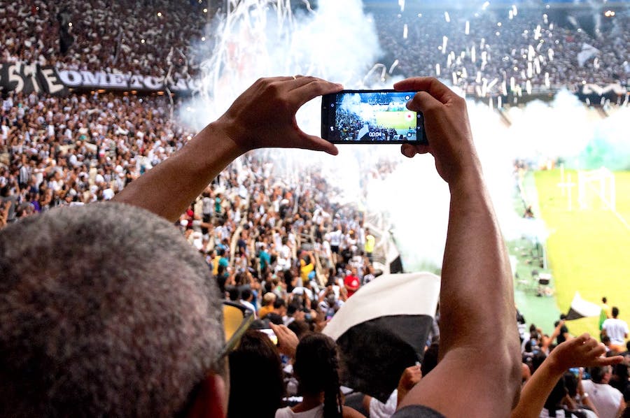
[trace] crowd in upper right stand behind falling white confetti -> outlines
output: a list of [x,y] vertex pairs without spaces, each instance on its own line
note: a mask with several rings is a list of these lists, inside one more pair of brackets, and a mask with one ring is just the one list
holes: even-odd
[[[583,83],[626,86],[630,34],[624,28],[630,23],[629,10],[614,17],[579,8],[569,14],[577,18],[559,24],[541,4],[450,14],[435,9],[417,15],[379,11],[374,22],[388,65],[398,60],[394,69],[403,75],[430,74],[473,92],[495,87],[494,94],[575,90]],[[561,15],[566,19],[564,10]],[[589,33],[580,27],[584,21],[601,23]],[[596,51],[580,64],[584,44]]]

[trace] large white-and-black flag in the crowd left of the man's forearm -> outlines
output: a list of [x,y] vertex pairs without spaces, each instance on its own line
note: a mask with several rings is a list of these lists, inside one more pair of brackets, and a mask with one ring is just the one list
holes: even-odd
[[341,383],[386,402],[424,355],[440,294],[432,273],[381,275],[360,287],[323,333],[337,341]]

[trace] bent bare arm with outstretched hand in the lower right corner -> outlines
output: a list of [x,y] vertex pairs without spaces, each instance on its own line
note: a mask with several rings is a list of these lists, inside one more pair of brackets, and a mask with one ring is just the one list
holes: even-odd
[[602,357],[606,348],[589,334],[566,340],[549,353],[521,391],[512,418],[538,418],[560,377],[571,367],[607,366],[623,361],[622,356]]

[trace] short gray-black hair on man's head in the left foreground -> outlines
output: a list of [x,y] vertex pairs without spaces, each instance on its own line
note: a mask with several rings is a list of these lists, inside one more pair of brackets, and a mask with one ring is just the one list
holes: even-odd
[[0,230],[0,416],[172,416],[223,342],[209,268],[165,219],[93,203]]

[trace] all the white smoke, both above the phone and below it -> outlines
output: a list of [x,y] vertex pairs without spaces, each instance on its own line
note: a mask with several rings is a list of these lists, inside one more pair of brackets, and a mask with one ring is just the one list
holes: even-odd
[[[360,0],[320,0],[316,13],[299,15],[291,14],[281,1],[243,0],[239,4],[232,15],[209,28],[216,50],[204,66],[206,94],[182,106],[179,117],[188,125],[201,129],[215,120],[238,94],[264,76],[316,75],[342,82],[346,89],[391,87],[393,80],[387,86],[363,82],[381,48]],[[320,134],[320,103],[311,101],[297,113],[298,124],[309,134]],[[596,138],[606,146],[625,147],[617,159],[630,161],[630,146],[620,134],[626,131],[629,108],[604,121],[565,91],[552,103],[533,101],[505,110],[510,127],[485,103],[469,101],[468,110],[484,177],[508,239],[534,235],[544,240],[545,236],[540,224],[514,212],[514,159],[543,164],[562,158],[568,166],[579,168],[585,164],[580,156]],[[449,191],[435,171],[433,157],[407,159],[397,145],[340,145],[337,157],[302,150],[271,152],[274,171],[294,182],[299,181],[300,166],[321,167],[330,184],[342,190],[339,201],[363,200],[365,186],[365,206],[388,214],[405,267],[441,266]],[[373,175],[381,159],[398,164],[383,180]]]

